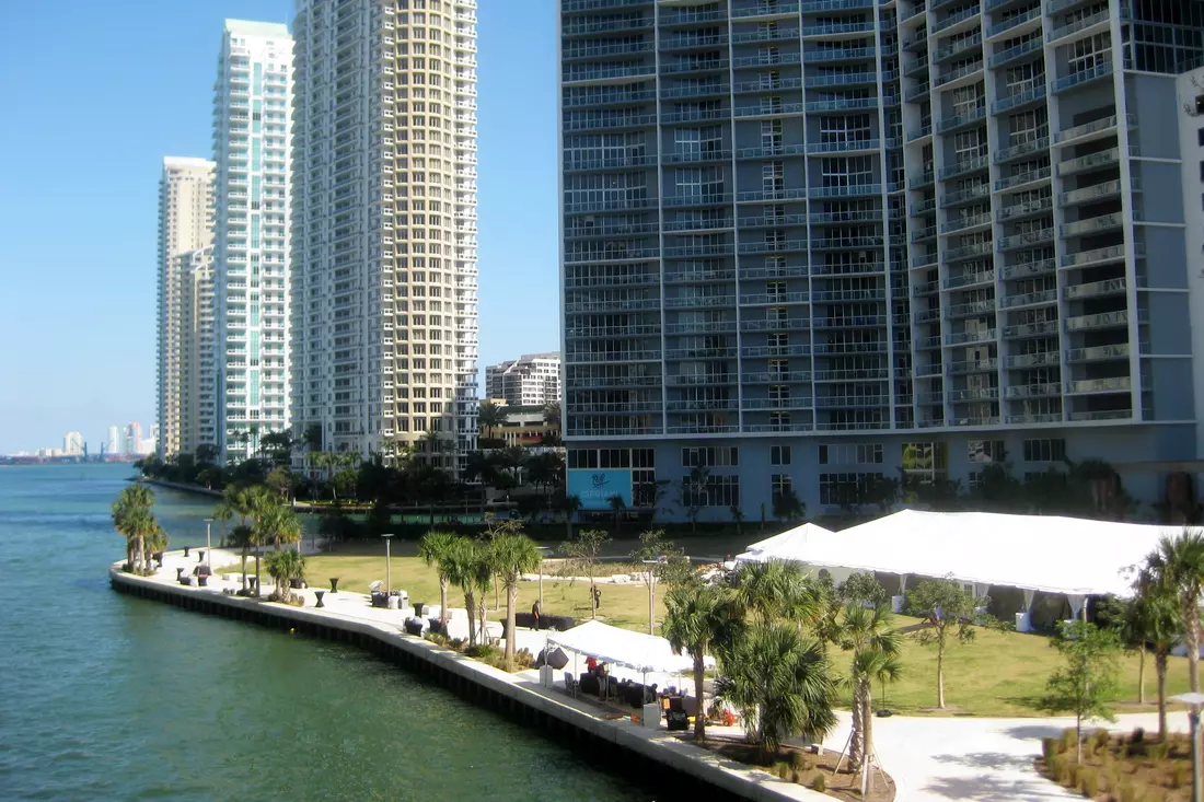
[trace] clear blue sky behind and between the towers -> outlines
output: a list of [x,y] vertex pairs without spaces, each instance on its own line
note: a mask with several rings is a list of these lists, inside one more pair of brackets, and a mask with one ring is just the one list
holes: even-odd
[[[5,7],[0,47],[0,454],[96,453],[155,414],[164,155],[211,157],[222,20],[291,0],[58,0]],[[555,14],[479,0],[480,364],[557,335]]]

